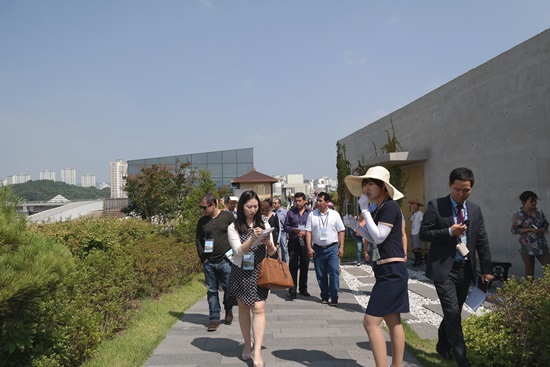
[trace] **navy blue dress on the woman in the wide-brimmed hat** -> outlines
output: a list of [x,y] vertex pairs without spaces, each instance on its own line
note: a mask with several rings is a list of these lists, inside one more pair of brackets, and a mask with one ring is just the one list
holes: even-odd
[[[402,215],[399,205],[393,200],[384,202],[373,215],[378,224],[393,224],[392,230],[384,242],[378,245],[380,259],[404,257],[402,235]],[[366,314],[384,317],[392,313],[409,312],[409,274],[405,262],[374,263],[376,283],[372,289]]]

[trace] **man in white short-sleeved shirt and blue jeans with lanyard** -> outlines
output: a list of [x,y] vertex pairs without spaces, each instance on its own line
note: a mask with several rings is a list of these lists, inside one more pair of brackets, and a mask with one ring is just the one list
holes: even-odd
[[315,264],[321,303],[338,306],[340,257],[344,254],[346,227],[340,214],[328,208],[329,202],[330,195],[320,192],[317,196],[317,209],[307,218],[306,246],[309,257]]

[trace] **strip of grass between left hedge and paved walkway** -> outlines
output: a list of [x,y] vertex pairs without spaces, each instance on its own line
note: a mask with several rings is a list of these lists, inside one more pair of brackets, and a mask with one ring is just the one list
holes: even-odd
[[204,275],[200,273],[173,293],[145,301],[128,329],[102,342],[97,355],[83,366],[143,366],[176,321],[205,294]]

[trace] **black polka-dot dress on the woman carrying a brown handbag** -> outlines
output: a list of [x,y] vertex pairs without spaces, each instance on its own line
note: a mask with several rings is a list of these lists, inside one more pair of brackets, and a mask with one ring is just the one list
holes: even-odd
[[[248,229],[248,233],[240,235],[241,243],[246,242],[254,232],[253,228]],[[258,269],[265,257],[265,246],[260,245],[252,249],[254,253],[254,270],[243,270],[237,265],[231,263],[231,276],[229,278],[229,295],[233,302],[239,299],[242,303],[252,306],[257,301],[265,301],[269,290],[259,287]]]

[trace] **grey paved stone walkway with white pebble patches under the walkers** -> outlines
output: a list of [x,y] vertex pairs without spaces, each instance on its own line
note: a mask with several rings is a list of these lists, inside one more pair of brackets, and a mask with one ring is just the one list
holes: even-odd
[[[374,275],[369,266],[343,264],[338,307],[320,303],[313,265],[309,270],[311,297],[286,298],[287,291],[272,292],[266,302],[263,359],[266,367],[374,367],[363,315]],[[410,268],[411,312],[403,314],[422,338],[436,339],[441,307],[435,289],[422,267]],[[240,359],[242,336],[237,308],[232,325],[207,332],[208,304],[200,299],[181,317],[145,366],[210,367],[252,366]],[[464,311],[465,317],[470,315]],[[391,353],[386,335],[388,354]],[[434,355],[435,355],[434,351]],[[388,363],[391,359],[388,359]],[[404,366],[421,366],[405,351]]]

